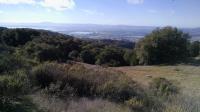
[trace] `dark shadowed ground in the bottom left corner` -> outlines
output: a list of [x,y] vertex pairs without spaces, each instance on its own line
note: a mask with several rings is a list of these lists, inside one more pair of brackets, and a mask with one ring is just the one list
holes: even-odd
[[0,102],[0,112],[44,112],[32,103],[29,97],[15,98],[15,100]]

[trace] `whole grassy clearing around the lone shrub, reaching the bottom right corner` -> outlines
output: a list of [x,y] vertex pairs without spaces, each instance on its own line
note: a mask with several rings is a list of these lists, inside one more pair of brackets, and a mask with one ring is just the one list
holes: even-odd
[[162,77],[172,80],[180,89],[178,96],[160,99],[164,109],[159,106],[152,112],[199,112],[200,111],[200,67],[192,65],[177,66],[135,66],[112,68],[124,72],[134,81],[148,90],[155,78]]

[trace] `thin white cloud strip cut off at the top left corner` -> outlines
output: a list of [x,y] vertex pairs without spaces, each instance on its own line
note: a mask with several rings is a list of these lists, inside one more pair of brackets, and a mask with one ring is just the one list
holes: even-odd
[[34,0],[0,0],[0,4],[34,4]]

